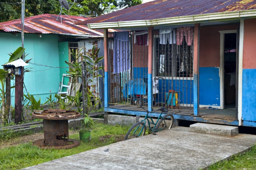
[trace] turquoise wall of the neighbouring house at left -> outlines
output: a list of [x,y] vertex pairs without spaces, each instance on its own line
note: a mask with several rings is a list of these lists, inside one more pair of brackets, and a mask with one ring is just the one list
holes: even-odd
[[[51,67],[59,67],[59,50],[58,50],[58,35],[42,34],[38,37],[35,34],[24,35],[24,48],[28,54],[26,59],[32,58],[31,63],[47,65]],[[4,64],[9,59],[9,53],[21,46],[21,37],[14,36],[11,33],[0,33],[0,64]],[[30,94],[38,100],[41,98],[41,103],[46,101],[46,97],[51,93],[57,93],[60,83],[60,68],[50,68],[38,66],[29,63],[25,68],[33,68],[31,72],[24,75],[24,83]],[[14,81],[11,82],[11,85]],[[25,89],[24,89],[25,92]],[[11,92],[12,103],[14,103],[14,92]]]

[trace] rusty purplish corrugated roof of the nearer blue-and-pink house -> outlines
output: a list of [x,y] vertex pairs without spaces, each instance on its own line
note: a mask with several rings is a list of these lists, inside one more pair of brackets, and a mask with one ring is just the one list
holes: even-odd
[[150,20],[256,9],[256,0],[156,0],[76,24]]

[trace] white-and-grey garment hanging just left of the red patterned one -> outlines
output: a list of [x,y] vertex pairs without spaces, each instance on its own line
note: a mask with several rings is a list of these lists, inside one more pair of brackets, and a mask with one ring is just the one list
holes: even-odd
[[175,30],[173,28],[160,29],[159,40],[160,44],[167,44],[167,41],[169,41],[169,44],[176,44]]

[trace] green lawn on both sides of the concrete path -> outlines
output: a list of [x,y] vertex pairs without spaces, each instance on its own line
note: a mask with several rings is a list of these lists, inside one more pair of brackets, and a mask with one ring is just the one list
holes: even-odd
[[[112,144],[124,139],[128,129],[129,126],[95,123],[91,134],[92,140],[89,143],[81,142],[78,147],[67,150],[38,149],[36,146],[32,146],[31,143],[0,149],[0,169],[21,169]],[[70,135],[69,138],[79,140],[79,134]],[[228,161],[213,164],[209,169],[254,170],[256,169],[256,146],[242,155],[232,157]]]

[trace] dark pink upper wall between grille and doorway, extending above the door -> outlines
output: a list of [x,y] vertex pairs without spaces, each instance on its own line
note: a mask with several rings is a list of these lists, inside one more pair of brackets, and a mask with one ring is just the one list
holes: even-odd
[[238,25],[203,26],[200,28],[199,66],[220,67],[220,33],[236,30]]

